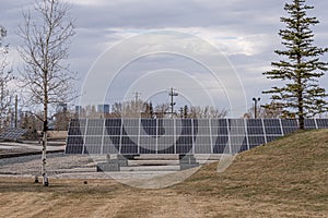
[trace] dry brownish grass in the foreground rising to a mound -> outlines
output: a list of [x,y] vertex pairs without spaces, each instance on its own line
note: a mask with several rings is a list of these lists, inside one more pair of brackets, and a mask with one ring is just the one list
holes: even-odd
[[328,130],[239,154],[222,173],[141,190],[112,180],[0,179],[0,217],[328,217]]

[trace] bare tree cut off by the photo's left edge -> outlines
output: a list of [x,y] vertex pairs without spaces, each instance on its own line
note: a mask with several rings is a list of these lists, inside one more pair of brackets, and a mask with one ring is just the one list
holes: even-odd
[[13,99],[13,92],[9,88],[9,83],[13,80],[12,71],[8,70],[7,55],[9,46],[3,44],[7,31],[0,26],[0,130],[5,128],[7,116]]

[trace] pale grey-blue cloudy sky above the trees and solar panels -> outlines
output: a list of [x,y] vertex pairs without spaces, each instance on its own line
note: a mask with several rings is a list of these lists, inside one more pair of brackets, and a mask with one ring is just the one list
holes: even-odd
[[[69,0],[71,16],[77,19],[77,35],[71,45],[69,62],[71,69],[80,74],[78,86],[81,95],[87,96],[90,88],[95,90],[102,78],[110,77],[106,72],[110,71],[112,65],[120,63],[117,65],[120,66],[119,73],[112,75],[113,80],[109,81],[113,84],[108,85],[109,78],[104,80],[107,84],[104,101],[108,104],[122,98],[132,99],[134,92],[140,92],[144,100],[168,101],[167,90],[174,87],[180,94],[176,99],[178,105],[214,104],[218,108],[230,110],[231,117],[241,117],[247,107],[251,107],[253,97],[261,97],[262,104],[268,102],[268,96],[261,92],[276,83],[261,73],[270,69],[271,61],[278,60],[273,50],[282,48],[278,31],[283,27],[280,16],[285,15],[285,1]],[[31,8],[33,3],[33,0],[1,0],[0,25],[8,29],[5,40],[11,46],[13,69],[22,64],[15,51],[21,44],[15,32],[22,23],[22,10]],[[328,38],[328,2],[308,0],[307,3],[315,5],[309,15],[320,21],[313,28],[315,45],[325,47]],[[174,36],[165,38],[161,34],[150,34],[163,31],[174,33]],[[140,38],[140,35],[144,36]],[[186,50],[190,45],[194,47]],[[144,46],[151,47],[145,49],[148,53],[153,52],[151,56],[144,56],[144,50],[143,53],[139,52]],[[220,55],[213,55],[213,49]],[[179,56],[180,52],[184,56]],[[191,58],[186,59],[187,56]],[[213,62],[207,60],[213,58],[226,58],[218,61],[218,64],[222,66],[230,63],[230,70],[226,70],[227,66],[211,68]],[[324,57],[325,61],[327,59]],[[197,60],[203,60],[210,66],[199,64],[201,61]],[[99,61],[103,62],[99,64]],[[218,71],[214,72],[219,77],[218,83],[213,82],[214,75],[209,73],[210,70]],[[87,84],[90,78],[97,77],[92,74],[95,71],[104,74],[98,75],[98,81],[95,78],[93,84]],[[221,71],[234,75],[226,80]],[[145,77],[148,80],[143,80]],[[321,80],[321,85],[328,89],[328,76]],[[91,98],[85,97],[83,104],[102,101]],[[202,102],[199,99],[207,100]]]

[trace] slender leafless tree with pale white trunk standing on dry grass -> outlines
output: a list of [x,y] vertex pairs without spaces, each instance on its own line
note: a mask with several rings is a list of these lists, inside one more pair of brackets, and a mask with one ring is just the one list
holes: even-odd
[[75,74],[67,63],[69,45],[75,34],[69,8],[59,0],[36,0],[34,13],[23,12],[19,35],[23,41],[19,52],[25,62],[24,87],[34,105],[43,106],[43,184],[48,185],[46,150],[48,111],[58,102],[67,102],[73,93]]

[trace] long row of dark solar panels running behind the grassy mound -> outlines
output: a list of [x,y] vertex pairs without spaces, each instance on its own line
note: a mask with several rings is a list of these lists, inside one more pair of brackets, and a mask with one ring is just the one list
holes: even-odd
[[[67,154],[236,154],[297,130],[286,119],[73,119]],[[328,119],[305,120],[326,129]]]

